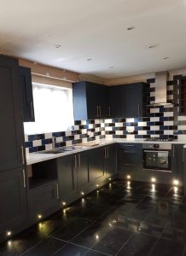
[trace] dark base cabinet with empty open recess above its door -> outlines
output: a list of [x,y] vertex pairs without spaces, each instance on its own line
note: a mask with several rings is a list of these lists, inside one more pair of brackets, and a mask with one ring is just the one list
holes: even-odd
[[32,223],[59,209],[59,184],[56,160],[26,166],[28,215]]

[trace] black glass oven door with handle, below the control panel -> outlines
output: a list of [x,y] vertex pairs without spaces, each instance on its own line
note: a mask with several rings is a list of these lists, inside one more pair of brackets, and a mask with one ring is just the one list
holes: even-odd
[[171,172],[171,150],[143,150],[143,169]]

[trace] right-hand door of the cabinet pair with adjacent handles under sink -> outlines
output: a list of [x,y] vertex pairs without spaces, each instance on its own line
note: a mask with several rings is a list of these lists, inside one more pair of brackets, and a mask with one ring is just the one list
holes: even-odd
[[77,154],[78,192],[86,191],[90,186],[89,161],[87,151]]

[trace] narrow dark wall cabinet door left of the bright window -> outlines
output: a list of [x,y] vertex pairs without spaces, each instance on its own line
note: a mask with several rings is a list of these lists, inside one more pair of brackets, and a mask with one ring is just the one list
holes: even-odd
[[20,90],[22,97],[23,121],[34,122],[31,69],[20,67]]

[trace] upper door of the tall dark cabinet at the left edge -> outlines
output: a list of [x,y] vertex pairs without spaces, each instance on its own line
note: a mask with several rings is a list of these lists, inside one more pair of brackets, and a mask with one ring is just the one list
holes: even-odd
[[0,172],[23,165],[23,123],[18,61],[0,56]]

